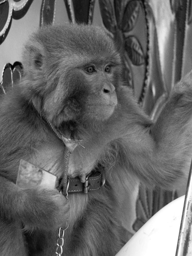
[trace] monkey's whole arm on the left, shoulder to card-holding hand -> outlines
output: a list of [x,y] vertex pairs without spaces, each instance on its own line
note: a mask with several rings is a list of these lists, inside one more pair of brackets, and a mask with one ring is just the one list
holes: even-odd
[[[17,91],[8,93],[0,102],[0,215],[20,220],[26,228],[58,228],[68,212],[65,197],[57,189],[40,186],[22,189],[15,185],[21,158],[31,162],[37,154],[44,164],[47,153],[44,141],[48,135],[35,113],[16,98]],[[39,144],[44,154],[40,155]],[[57,160],[54,157],[53,153],[53,163]]]

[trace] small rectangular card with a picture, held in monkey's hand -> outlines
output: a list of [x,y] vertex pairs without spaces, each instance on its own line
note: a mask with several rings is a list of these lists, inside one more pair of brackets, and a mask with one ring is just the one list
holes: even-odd
[[44,188],[55,188],[57,178],[51,172],[21,159],[16,185],[20,188],[34,188],[39,185],[43,185]]

